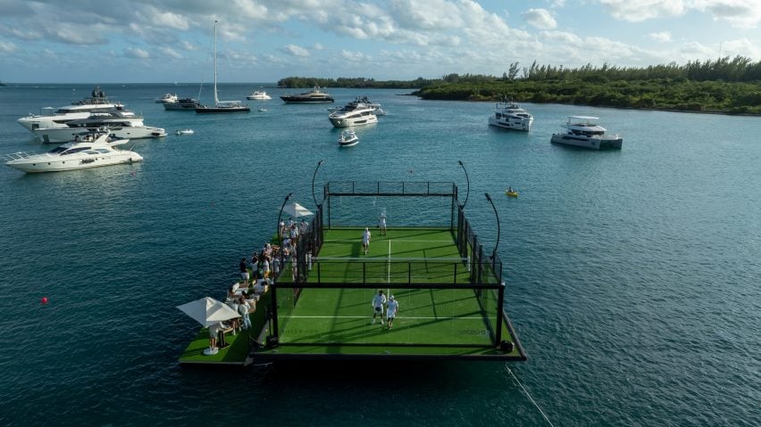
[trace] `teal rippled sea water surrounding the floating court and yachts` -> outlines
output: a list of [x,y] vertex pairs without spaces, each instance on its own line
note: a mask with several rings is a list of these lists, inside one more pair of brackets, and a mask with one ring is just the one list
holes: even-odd
[[[51,148],[15,119],[91,88],[0,88],[0,153]],[[326,105],[276,98],[197,116],[153,103],[196,86],[104,88],[170,135],[135,141],[146,160],[132,166],[0,168],[0,423],[546,424],[508,367],[557,426],[761,423],[761,119],[524,104],[535,122],[523,134],[488,127],[491,103],[332,89],[336,105],[368,94],[389,112],[339,149]],[[572,114],[600,117],[623,150],[549,144]],[[173,135],[185,127],[196,134]],[[321,159],[318,188],[464,190],[463,160],[485,250],[497,235],[483,193],[494,196],[507,310],[529,360],[180,368],[197,324],[175,306],[222,298],[285,195],[314,205]]]

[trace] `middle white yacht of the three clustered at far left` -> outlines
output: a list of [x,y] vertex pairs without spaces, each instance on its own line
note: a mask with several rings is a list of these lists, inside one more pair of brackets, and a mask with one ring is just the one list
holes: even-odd
[[122,111],[94,112],[87,119],[71,120],[63,127],[40,127],[32,133],[37,135],[43,143],[65,143],[74,139],[74,136],[83,132],[94,132],[105,129],[109,134],[117,138],[159,138],[166,136],[166,131],[161,127],[150,127],[143,123],[143,119],[134,113]]

